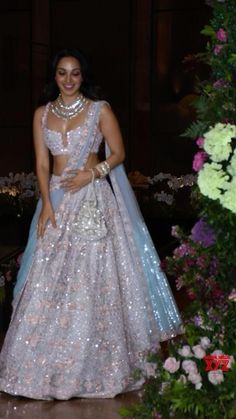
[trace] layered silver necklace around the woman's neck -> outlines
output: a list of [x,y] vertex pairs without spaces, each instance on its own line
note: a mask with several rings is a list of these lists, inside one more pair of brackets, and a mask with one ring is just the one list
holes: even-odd
[[87,103],[88,100],[80,93],[73,103],[70,105],[65,105],[61,94],[59,94],[55,102],[51,104],[51,111],[58,118],[68,120],[74,118],[80,112],[82,112],[85,109]]

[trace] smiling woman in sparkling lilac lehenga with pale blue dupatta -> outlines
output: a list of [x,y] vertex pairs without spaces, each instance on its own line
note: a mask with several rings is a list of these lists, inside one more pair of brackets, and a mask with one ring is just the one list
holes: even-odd
[[56,95],[34,116],[41,200],[15,287],[0,390],[45,400],[114,397],[140,388],[134,370],[179,333],[180,318],[121,164],[117,120],[95,100],[83,55],[61,51],[54,77]]

